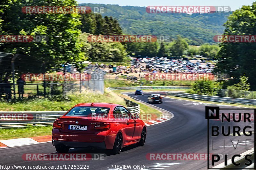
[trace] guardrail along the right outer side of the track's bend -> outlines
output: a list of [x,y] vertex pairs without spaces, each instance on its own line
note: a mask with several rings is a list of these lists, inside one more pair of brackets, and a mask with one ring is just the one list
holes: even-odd
[[180,93],[180,92],[169,92],[166,95],[177,96],[177,97],[185,97],[185,98],[197,99],[197,100],[206,100],[206,101],[256,105],[256,99],[242,99],[242,98],[231,98],[231,97],[206,96],[206,95]]

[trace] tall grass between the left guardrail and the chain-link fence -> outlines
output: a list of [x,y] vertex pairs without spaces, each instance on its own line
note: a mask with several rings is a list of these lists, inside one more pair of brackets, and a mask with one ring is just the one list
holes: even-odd
[[105,102],[125,105],[124,100],[116,98],[109,92],[84,92],[67,95],[67,98],[35,98],[14,102],[1,102],[0,111],[60,111],[68,110],[78,103]]

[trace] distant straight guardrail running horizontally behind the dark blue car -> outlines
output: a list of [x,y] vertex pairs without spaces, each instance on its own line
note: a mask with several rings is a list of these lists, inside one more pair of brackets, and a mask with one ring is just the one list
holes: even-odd
[[132,86],[132,87],[108,87],[107,90],[136,90],[136,89],[190,89],[183,86]]

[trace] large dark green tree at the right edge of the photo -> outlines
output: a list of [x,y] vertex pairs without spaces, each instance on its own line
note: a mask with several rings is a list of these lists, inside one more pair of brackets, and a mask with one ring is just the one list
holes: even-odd
[[[242,6],[234,11],[224,24],[224,35],[255,35],[256,33],[256,2],[252,6]],[[255,43],[220,44],[219,62],[215,72],[227,73],[232,77],[229,83],[238,83],[239,77],[246,74],[252,90],[256,90],[256,48]]]

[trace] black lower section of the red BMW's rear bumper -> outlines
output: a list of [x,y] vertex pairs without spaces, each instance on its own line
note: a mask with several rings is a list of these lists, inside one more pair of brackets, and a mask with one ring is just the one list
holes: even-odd
[[106,149],[105,142],[69,142],[69,141],[57,141],[52,139],[52,145],[56,146],[58,144],[64,144],[70,148],[97,148]]

